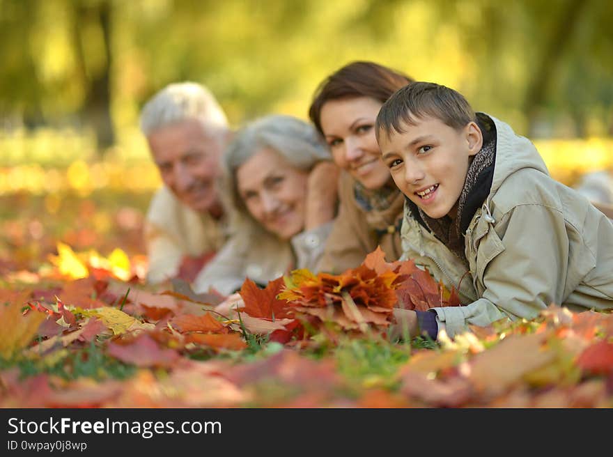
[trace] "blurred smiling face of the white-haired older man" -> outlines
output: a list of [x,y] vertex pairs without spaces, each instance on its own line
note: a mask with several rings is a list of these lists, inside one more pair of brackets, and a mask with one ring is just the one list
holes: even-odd
[[180,201],[199,212],[219,206],[221,134],[208,134],[190,119],[154,130],[147,140],[162,181]]

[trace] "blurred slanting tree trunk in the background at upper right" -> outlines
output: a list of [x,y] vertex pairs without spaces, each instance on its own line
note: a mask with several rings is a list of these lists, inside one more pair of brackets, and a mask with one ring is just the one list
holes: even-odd
[[[580,22],[586,0],[570,0],[566,8],[559,13],[560,20],[552,30],[549,42],[545,44],[543,57],[537,63],[534,77],[528,84],[524,100],[524,112],[528,120],[528,134],[534,135],[534,127],[538,117],[538,108],[543,105],[545,95],[551,80],[557,71],[557,65],[564,56],[564,51],[571,43],[573,32]],[[554,8],[551,6],[551,8]]]

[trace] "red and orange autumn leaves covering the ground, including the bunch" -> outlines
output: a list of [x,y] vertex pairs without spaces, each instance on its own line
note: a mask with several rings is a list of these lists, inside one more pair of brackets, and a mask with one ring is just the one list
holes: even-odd
[[[412,350],[393,379],[356,392],[334,357],[308,351],[347,339],[393,344],[398,303],[460,305],[455,291],[410,261],[386,263],[380,249],[341,275],[296,270],[264,289],[247,280],[238,316],[212,311],[224,297],[151,293],[102,270],[0,293],[4,408],[613,406],[613,316],[554,306]],[[260,357],[231,356],[252,350],[256,334],[267,341]],[[92,345],[134,372],[121,380],[45,371]],[[38,374],[25,375],[25,362]]]

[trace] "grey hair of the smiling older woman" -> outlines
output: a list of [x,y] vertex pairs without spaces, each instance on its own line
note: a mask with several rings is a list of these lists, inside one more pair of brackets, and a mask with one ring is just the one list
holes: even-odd
[[236,171],[261,150],[269,148],[284,157],[297,169],[310,171],[323,160],[332,160],[325,141],[315,128],[293,116],[271,114],[251,121],[235,134],[226,148],[222,165],[226,192],[231,206],[248,215],[245,204],[238,195]]

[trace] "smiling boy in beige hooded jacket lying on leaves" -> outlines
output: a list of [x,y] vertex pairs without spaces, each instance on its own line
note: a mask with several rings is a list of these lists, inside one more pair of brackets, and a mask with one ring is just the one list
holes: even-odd
[[411,336],[531,319],[551,303],[613,308],[613,224],[553,180],[528,139],[427,82],[392,95],[375,131],[406,197],[401,258],[455,286],[465,304],[399,309]]

